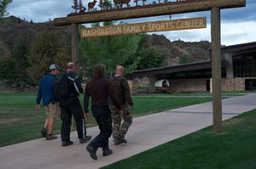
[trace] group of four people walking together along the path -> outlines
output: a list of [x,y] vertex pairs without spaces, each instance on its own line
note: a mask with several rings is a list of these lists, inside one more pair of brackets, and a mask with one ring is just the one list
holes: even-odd
[[[116,74],[110,79],[104,77],[105,69],[105,65],[95,65],[93,78],[83,89],[82,79],[78,76],[77,67],[73,62],[67,64],[67,71],[62,74],[60,74],[59,66],[55,64],[49,66],[49,74],[41,79],[36,99],[36,109],[40,109],[40,101],[43,99],[47,112],[44,128],[41,130],[44,138],[47,140],[57,138],[53,135],[53,127],[55,118],[61,115],[61,145],[73,144],[70,140],[73,115],[79,143],[84,144],[89,141],[91,136],[87,135],[85,121],[90,118],[89,102],[91,99],[91,114],[96,119],[100,133],[86,146],[90,157],[97,160],[96,151],[99,148],[102,148],[103,156],[113,154],[113,150],[109,149],[108,145],[108,138],[112,134],[115,145],[127,143],[125,134],[131,126],[131,109],[134,108],[130,87],[121,65],[116,67]],[[57,76],[61,76],[62,79],[56,81]],[[68,92],[65,96],[56,93],[55,82],[61,82],[62,86],[67,82]],[[84,110],[79,100],[81,93],[84,93]],[[121,123],[122,118],[123,123]]]

